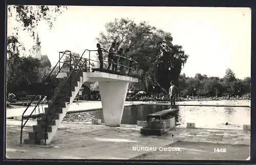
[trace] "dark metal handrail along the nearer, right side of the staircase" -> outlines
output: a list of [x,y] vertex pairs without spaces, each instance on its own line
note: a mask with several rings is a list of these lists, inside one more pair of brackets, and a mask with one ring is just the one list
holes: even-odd
[[[87,50],[87,49],[86,49],[86,50]],[[62,91],[63,87],[65,87],[66,83],[68,82],[69,78],[71,77],[71,75],[72,75],[72,73],[74,72],[75,68],[77,67],[78,63],[81,61],[82,56],[83,56],[84,52],[86,52],[86,50],[83,51],[83,53],[82,53],[80,59],[77,61],[76,65],[74,66],[74,69],[72,70],[72,72],[70,72],[68,78],[66,79],[65,83],[63,84],[63,86],[61,87],[61,89],[60,89],[59,91]],[[69,92],[68,95],[70,96],[70,92]],[[54,102],[56,103],[57,100],[58,100],[58,97],[56,97],[56,99],[53,101],[53,104],[52,104],[50,107],[48,107],[48,111],[47,111],[47,113],[46,113],[46,120],[45,120],[45,123],[46,123],[46,127],[45,127],[45,145],[46,145],[46,137],[47,137],[47,128],[48,128],[49,125],[50,125],[50,122],[48,123],[48,115],[50,114],[50,109],[51,109],[51,107],[53,107]],[[70,100],[70,99],[69,99],[69,100]],[[57,109],[58,109],[58,108],[55,109],[54,114],[56,114]]]

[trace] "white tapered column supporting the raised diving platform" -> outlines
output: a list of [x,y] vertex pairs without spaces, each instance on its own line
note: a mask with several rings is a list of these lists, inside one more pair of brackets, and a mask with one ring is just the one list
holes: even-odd
[[99,81],[99,92],[106,126],[121,124],[129,81]]

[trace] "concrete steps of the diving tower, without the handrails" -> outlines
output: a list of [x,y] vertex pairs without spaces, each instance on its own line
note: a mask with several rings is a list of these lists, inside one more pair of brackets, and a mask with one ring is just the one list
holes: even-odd
[[54,96],[49,100],[48,107],[45,107],[45,113],[40,114],[40,119],[37,119],[37,125],[33,125],[33,132],[29,132],[29,139],[24,140],[25,144],[49,144],[52,141],[84,82],[82,70],[73,71],[71,76],[70,73],[59,75],[57,78],[60,83],[54,89]]

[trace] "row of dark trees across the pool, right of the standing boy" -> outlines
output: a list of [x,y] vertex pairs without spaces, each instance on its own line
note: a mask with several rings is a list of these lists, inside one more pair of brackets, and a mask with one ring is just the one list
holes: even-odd
[[195,77],[186,77],[185,74],[182,74],[179,76],[180,94],[183,96],[199,95],[214,97],[227,95],[242,96],[250,93],[250,77],[245,77],[243,80],[237,79],[230,69],[227,69],[226,73],[228,74],[223,78],[208,77],[200,73],[197,73]]

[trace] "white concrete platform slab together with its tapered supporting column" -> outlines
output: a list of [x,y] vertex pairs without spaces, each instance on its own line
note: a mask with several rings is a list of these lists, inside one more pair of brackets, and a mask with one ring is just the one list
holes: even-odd
[[83,76],[98,81],[105,125],[120,126],[129,82],[138,78],[104,72],[84,72]]

